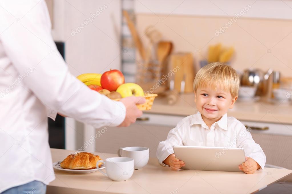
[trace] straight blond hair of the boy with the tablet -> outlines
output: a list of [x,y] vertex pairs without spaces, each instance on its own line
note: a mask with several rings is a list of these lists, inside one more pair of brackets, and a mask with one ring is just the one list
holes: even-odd
[[210,63],[202,67],[194,80],[194,91],[200,87],[210,87],[216,90],[218,86],[230,91],[234,98],[238,95],[239,77],[237,72],[223,63]]

